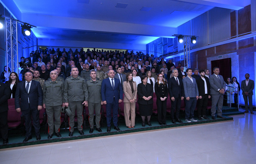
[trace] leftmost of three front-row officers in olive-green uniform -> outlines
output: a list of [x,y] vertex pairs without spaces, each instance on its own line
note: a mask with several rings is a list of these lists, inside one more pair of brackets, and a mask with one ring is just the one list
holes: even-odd
[[[58,80],[57,71],[51,71],[50,79],[46,80],[43,87],[43,107],[46,109],[48,122],[48,139],[52,138],[53,130],[55,135],[61,137],[59,133],[61,107],[64,107],[64,83]],[[53,122],[54,115],[54,122]]]

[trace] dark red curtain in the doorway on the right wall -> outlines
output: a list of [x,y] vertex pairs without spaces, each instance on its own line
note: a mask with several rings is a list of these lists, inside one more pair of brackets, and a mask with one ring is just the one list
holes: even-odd
[[220,75],[223,76],[223,79],[225,82],[228,77],[232,78],[231,77],[231,58],[211,61],[211,74],[213,74],[214,67],[220,68]]

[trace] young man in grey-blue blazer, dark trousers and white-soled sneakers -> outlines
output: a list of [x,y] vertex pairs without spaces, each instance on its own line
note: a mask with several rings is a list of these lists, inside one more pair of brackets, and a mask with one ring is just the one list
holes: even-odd
[[197,105],[198,100],[198,88],[197,88],[197,82],[195,78],[192,78],[192,69],[188,68],[186,70],[187,76],[182,79],[183,86],[184,86],[184,92],[185,92],[185,121],[191,122],[191,121],[197,121],[194,119],[194,111]]

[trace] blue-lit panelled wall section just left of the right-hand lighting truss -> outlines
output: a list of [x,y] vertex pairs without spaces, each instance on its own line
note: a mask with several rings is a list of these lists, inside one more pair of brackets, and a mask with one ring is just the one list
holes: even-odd
[[169,56],[178,52],[177,38],[158,38],[146,45],[147,54],[155,57]]

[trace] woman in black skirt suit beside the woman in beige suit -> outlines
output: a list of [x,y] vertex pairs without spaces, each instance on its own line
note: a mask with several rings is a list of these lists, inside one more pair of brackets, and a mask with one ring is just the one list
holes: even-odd
[[153,89],[152,86],[147,83],[148,78],[143,75],[140,84],[137,86],[139,111],[142,119],[142,126],[145,126],[145,118],[147,116],[147,124],[150,124],[150,118],[153,112]]

